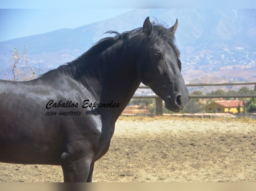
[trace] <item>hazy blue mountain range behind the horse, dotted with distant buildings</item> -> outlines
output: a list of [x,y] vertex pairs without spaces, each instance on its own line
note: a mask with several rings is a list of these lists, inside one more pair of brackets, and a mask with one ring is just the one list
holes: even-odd
[[[256,9],[136,9],[76,29],[60,29],[0,42],[0,78],[10,70],[4,52],[26,46],[28,62],[42,72],[70,62],[86,52],[109,30],[142,27],[147,16],[171,27],[178,19],[176,45],[186,82],[256,81]],[[215,81],[215,82],[216,82]]]

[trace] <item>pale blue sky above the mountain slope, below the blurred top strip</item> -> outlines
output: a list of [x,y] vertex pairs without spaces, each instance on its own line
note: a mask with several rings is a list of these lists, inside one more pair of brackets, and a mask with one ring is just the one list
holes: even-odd
[[77,28],[109,19],[132,9],[0,9],[0,42]]

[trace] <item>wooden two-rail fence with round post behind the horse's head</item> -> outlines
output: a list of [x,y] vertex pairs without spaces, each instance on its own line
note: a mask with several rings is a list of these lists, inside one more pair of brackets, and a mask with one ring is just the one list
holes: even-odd
[[[198,84],[186,84],[187,87],[202,87],[202,86],[240,86],[240,85],[256,85],[256,82],[228,82],[228,83],[198,83]],[[150,89],[148,86],[139,86],[138,89]],[[256,95],[190,95],[192,98],[246,98],[256,97]],[[133,95],[133,99],[136,98],[155,98],[156,114],[163,114],[163,100],[158,95]]]

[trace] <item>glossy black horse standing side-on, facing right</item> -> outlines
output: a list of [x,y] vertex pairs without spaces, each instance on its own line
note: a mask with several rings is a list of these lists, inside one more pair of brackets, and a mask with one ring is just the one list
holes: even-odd
[[174,26],[151,23],[104,38],[76,60],[27,82],[0,81],[0,162],[61,165],[91,182],[115,122],[142,82],[178,112],[188,102]]

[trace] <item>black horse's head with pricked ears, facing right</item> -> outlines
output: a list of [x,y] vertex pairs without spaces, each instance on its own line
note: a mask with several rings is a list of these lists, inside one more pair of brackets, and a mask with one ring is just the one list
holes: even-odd
[[152,25],[147,17],[143,24],[145,47],[138,60],[138,74],[143,84],[160,96],[168,110],[179,112],[189,99],[181,76],[179,51],[174,45],[176,23],[169,29]]

